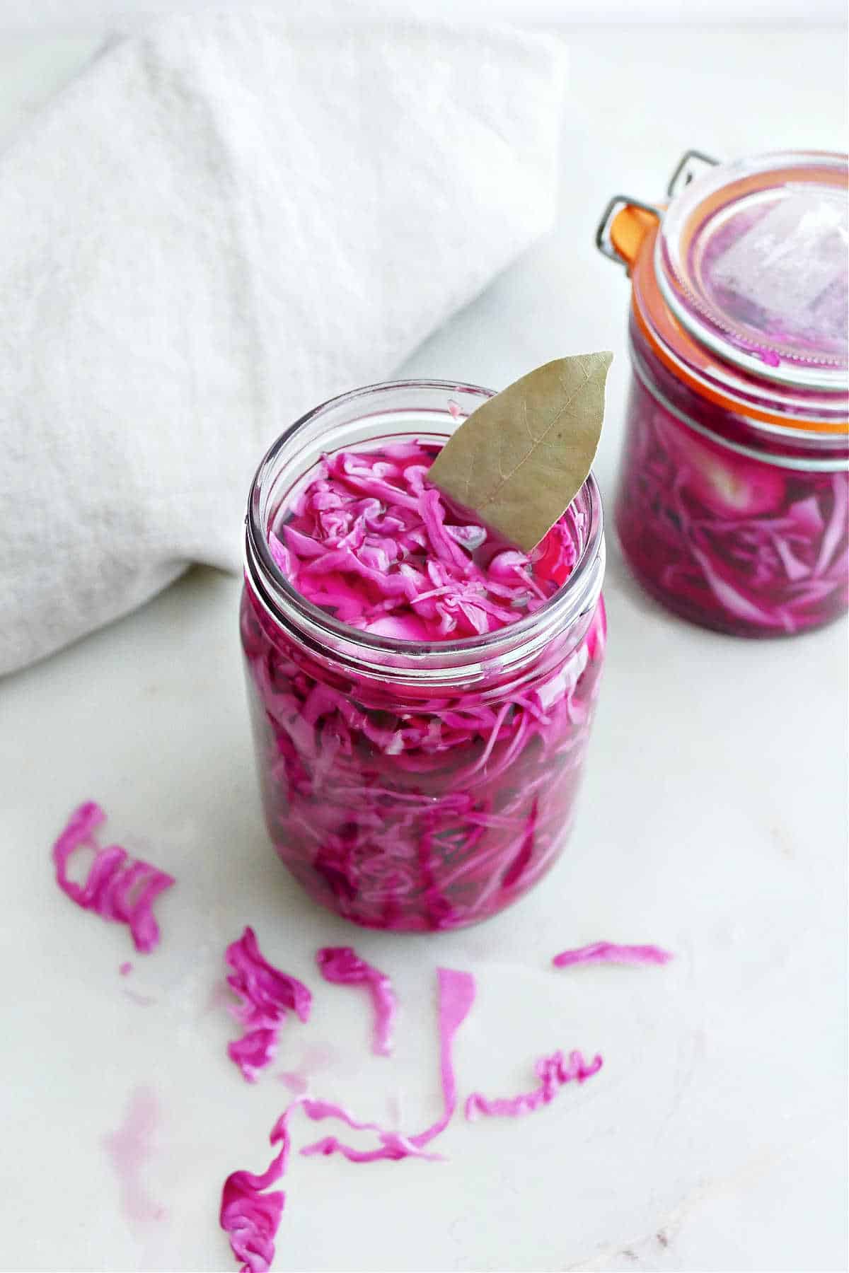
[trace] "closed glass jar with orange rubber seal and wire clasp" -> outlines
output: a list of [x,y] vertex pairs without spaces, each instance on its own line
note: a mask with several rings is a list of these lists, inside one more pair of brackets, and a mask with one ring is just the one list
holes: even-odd
[[616,196],[598,228],[633,279],[622,552],[719,631],[802,633],[849,601],[846,172],[687,151],[668,205]]

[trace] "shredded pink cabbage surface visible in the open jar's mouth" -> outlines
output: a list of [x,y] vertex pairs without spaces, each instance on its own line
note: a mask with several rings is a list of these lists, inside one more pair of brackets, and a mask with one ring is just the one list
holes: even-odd
[[425,485],[438,451],[411,442],[325,457],[270,536],[304,597],[351,628],[446,640],[504,628],[556,592],[573,537],[560,528],[526,556],[449,512]]

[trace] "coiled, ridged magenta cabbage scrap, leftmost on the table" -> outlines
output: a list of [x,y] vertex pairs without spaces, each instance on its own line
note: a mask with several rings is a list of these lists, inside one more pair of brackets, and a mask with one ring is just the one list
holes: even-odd
[[[74,810],[53,844],[56,882],[84,910],[127,924],[136,950],[146,955],[159,942],[153,904],[160,892],[174,883],[174,878],[148,862],[131,858],[126,849],[116,844],[102,849],[94,831],[104,821],[106,813],[94,801]],[[78,849],[94,853],[84,883],[76,883],[67,875],[70,858]]]

